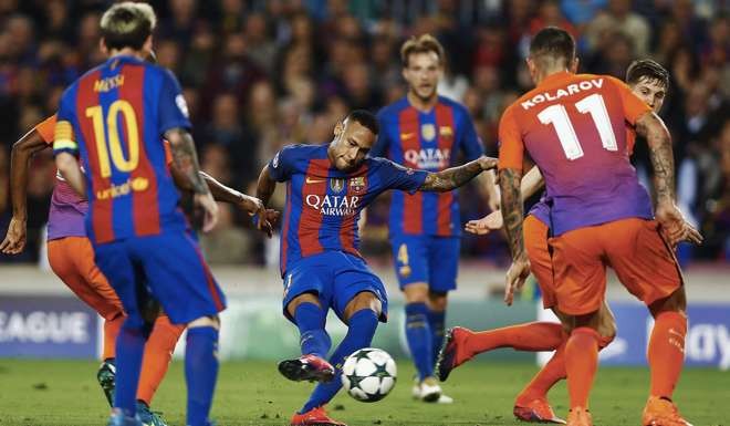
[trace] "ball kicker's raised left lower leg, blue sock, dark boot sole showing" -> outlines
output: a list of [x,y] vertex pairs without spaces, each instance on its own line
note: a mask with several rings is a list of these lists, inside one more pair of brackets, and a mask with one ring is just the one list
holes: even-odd
[[288,306],[300,333],[302,356],[279,363],[279,372],[290,381],[330,382],[334,378],[334,367],[325,361],[332,340],[324,329],[326,311],[316,295],[304,293],[296,297]]

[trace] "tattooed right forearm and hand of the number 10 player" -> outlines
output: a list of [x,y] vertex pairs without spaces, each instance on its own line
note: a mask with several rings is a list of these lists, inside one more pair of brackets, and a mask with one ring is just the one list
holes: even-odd
[[218,205],[213,200],[205,179],[200,176],[200,165],[198,164],[192,136],[185,128],[176,127],[165,132],[165,138],[170,144],[175,167],[189,181],[190,190],[195,194],[195,202],[206,211],[202,230],[208,232],[218,221]]

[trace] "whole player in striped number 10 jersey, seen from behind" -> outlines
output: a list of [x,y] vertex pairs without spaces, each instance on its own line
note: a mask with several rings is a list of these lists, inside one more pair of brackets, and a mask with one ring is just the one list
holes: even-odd
[[[117,337],[114,411],[108,426],[140,426],[136,392],[156,299],[170,322],[187,324],[187,425],[209,426],[218,372],[218,312],[225,298],[178,208],[163,136],[196,202],[215,224],[217,208],[199,175],[180,86],[145,62],[156,23],[149,4],[121,2],[101,20],[107,61],[61,97],[53,150],[69,185],[88,200],[86,233],[98,269],[127,314]],[[85,173],[82,173],[77,157]],[[85,193],[85,194],[84,194]]]

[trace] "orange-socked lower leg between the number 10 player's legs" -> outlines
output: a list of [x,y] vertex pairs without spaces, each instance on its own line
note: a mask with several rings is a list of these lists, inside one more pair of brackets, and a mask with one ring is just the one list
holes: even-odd
[[149,405],[167,374],[175,345],[182,331],[185,331],[184,325],[170,323],[169,318],[163,314],[155,321],[155,328],[147,340],[137,387],[137,415],[145,425],[166,426],[163,418],[153,412]]

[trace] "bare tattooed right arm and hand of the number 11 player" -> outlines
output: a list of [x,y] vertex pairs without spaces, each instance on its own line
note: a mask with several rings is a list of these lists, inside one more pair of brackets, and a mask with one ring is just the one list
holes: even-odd
[[672,246],[679,241],[701,243],[701,233],[685,220],[675,204],[675,162],[667,127],[656,113],[649,112],[636,121],[636,133],[644,136],[649,146],[654,188],[657,193],[656,218],[664,235]]

